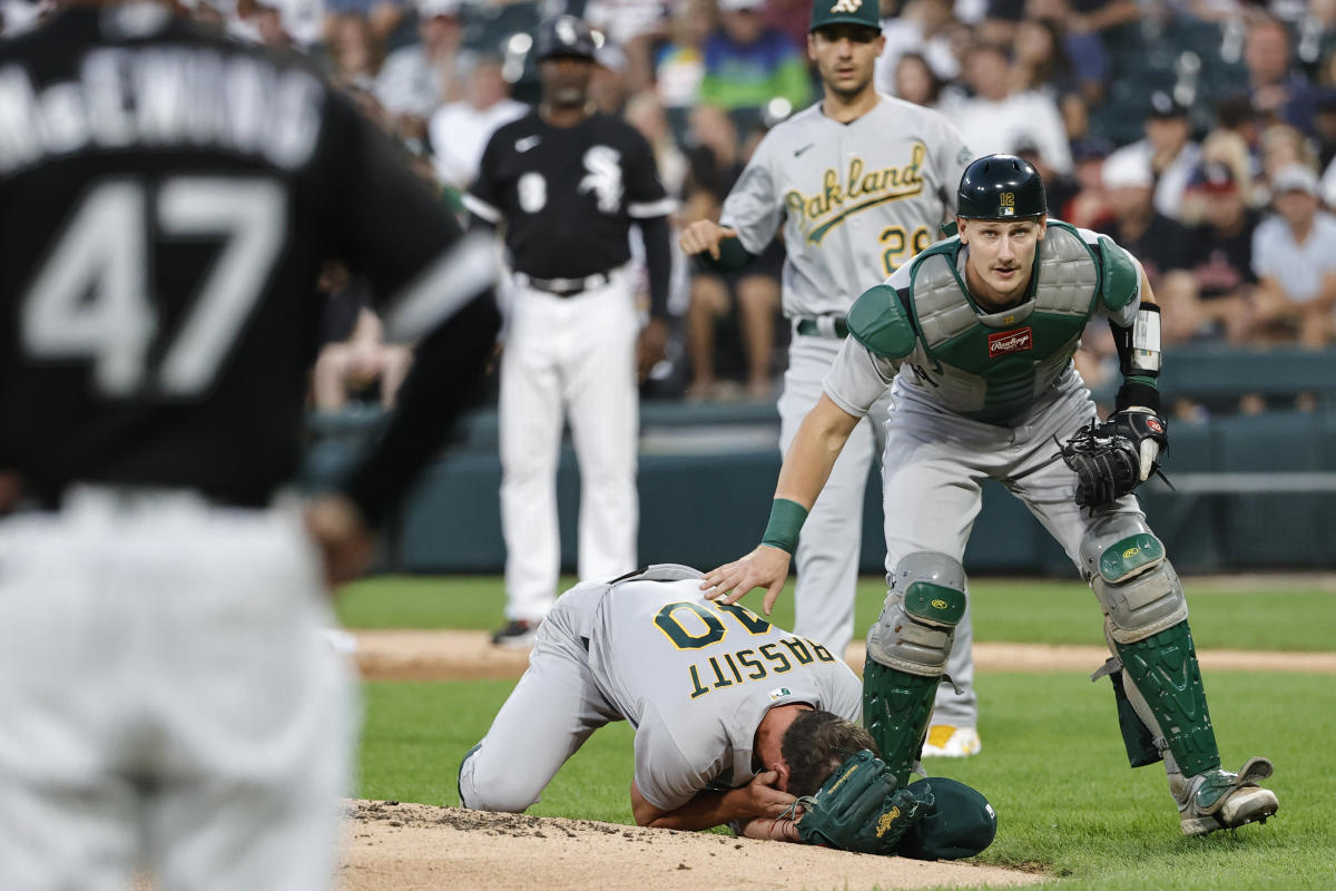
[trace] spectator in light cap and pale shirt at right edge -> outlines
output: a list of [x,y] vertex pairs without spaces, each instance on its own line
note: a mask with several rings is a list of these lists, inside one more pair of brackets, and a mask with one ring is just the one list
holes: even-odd
[[1336,218],[1319,210],[1317,175],[1291,164],[1272,179],[1276,215],[1253,235],[1252,331],[1269,341],[1328,346],[1336,311]]

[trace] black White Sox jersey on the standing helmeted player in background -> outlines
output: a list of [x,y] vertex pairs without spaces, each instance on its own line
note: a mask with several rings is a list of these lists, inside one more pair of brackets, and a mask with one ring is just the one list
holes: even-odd
[[464,204],[505,223],[517,271],[549,279],[629,262],[632,222],[673,210],[649,143],[631,124],[593,114],[553,127],[537,111],[492,135]]

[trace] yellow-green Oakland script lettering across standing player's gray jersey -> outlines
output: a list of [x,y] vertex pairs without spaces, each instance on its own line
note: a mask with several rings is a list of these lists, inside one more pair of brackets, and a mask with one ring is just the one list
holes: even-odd
[[866,162],[855,156],[842,180],[827,167],[822,175],[822,190],[804,195],[794,188],[784,194],[784,206],[812,244],[820,244],[828,231],[846,219],[878,204],[914,198],[923,191],[923,162],[927,147],[914,143],[910,163],[902,167],[866,170]]

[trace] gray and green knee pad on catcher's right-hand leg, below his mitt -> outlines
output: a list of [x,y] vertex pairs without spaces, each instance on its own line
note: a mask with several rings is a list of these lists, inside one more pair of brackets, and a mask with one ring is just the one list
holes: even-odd
[[1188,600],[1165,548],[1149,532],[1116,541],[1088,540],[1081,545],[1086,566],[1093,566],[1090,588],[1100,600],[1109,636],[1133,644],[1188,618]]

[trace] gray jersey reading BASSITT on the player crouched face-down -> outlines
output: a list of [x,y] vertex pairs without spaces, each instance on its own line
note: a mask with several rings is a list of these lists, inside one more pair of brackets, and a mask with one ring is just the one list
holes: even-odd
[[843,660],[705,600],[700,578],[665,564],[612,585],[589,640],[596,683],[636,728],[636,785],[664,810],[712,783],[749,781],[756,727],[774,705],[862,716],[862,685]]

